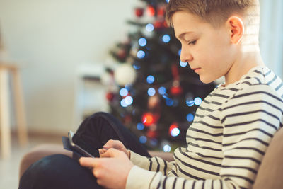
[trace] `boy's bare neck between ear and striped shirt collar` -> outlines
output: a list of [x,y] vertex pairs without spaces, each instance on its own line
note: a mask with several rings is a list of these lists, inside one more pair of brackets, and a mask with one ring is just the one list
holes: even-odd
[[241,79],[253,67],[264,65],[258,45],[239,50],[238,57],[225,75],[225,86]]

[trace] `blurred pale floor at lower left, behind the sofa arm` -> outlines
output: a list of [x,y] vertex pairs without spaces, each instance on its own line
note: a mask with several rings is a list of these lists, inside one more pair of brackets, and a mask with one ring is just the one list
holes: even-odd
[[1,159],[0,154],[0,189],[18,188],[18,171],[21,158],[33,147],[38,144],[52,143],[62,144],[60,136],[42,136],[33,134],[29,136],[29,144],[27,147],[18,146],[16,136],[12,137],[12,155],[9,159]]

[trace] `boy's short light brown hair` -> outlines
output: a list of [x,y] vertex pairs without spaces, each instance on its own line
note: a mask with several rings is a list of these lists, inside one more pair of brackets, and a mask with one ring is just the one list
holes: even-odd
[[260,24],[258,0],[170,0],[166,8],[166,21],[171,27],[173,14],[177,11],[192,13],[214,28],[223,25],[232,14],[243,16],[244,23],[255,26],[255,29],[259,29]]

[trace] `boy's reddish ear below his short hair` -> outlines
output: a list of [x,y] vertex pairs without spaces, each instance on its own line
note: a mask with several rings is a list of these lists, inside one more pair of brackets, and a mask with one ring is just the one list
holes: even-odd
[[238,45],[245,33],[245,25],[243,24],[242,19],[238,16],[231,16],[228,18],[226,24],[229,28],[231,42]]

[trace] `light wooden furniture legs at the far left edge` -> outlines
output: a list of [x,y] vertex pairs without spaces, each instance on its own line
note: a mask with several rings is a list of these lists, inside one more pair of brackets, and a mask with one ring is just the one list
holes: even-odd
[[19,144],[21,147],[28,144],[28,132],[26,129],[25,111],[23,108],[23,93],[21,91],[21,79],[18,67],[0,62],[0,138],[1,156],[3,159],[11,156],[11,103],[9,99],[11,91],[9,74],[11,74]]

